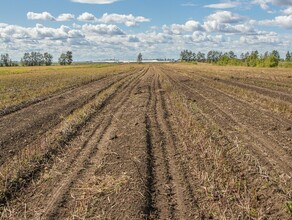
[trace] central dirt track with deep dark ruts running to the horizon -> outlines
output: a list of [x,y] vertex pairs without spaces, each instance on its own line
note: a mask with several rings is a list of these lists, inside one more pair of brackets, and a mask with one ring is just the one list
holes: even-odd
[[[194,193],[176,149],[173,131],[160,84],[160,74],[151,70],[149,107],[146,114],[148,140],[148,207],[146,219],[192,219],[196,210]],[[153,215],[153,212],[155,213]],[[154,217],[153,217],[154,216]]]

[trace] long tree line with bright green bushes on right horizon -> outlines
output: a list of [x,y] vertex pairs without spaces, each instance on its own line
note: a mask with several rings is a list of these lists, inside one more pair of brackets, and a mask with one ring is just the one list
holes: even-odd
[[[194,53],[191,50],[183,50],[180,53],[180,59],[184,62],[207,62],[218,65],[236,65],[236,66],[251,66],[251,67],[277,67],[281,61],[280,54],[277,50],[259,54],[257,50],[252,52],[242,53],[240,57],[233,51],[220,52],[211,50],[207,54],[198,52]],[[286,62],[292,62],[292,52],[287,52]]]

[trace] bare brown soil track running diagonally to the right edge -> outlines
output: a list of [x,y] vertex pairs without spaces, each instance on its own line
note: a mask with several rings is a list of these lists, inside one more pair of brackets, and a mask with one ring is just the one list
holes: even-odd
[[224,128],[231,137],[237,137],[239,135],[245,141],[246,145],[252,142],[252,147],[249,147],[249,149],[260,156],[258,159],[261,160],[263,164],[268,165],[274,170],[274,166],[276,166],[277,169],[275,171],[280,171],[290,177],[292,166],[288,161],[292,160],[282,148],[272,140],[267,140],[266,137],[263,137],[253,128],[242,124],[242,122],[235,118],[226,108],[223,109],[215,104],[216,102],[214,102],[213,99],[199,92],[202,86],[191,87],[187,83],[172,78],[170,74],[166,73],[166,75],[174,86],[179,86],[179,91],[188,97],[189,100],[195,100],[203,114],[207,114],[211,117],[215,123]]

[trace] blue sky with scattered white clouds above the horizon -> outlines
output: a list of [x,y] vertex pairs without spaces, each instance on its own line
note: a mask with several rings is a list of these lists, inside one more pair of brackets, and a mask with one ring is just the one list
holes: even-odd
[[180,51],[292,51],[292,0],[1,0],[0,54],[57,61],[178,59]]

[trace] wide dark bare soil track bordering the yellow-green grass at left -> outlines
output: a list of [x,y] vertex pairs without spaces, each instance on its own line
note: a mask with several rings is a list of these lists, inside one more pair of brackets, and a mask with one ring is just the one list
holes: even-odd
[[[4,155],[15,155],[21,147],[57,126],[62,117],[81,108],[102,91],[133,74],[130,72],[104,78],[0,118],[0,165],[7,159]],[[78,91],[81,92],[77,93]]]

